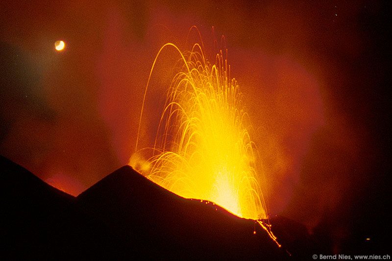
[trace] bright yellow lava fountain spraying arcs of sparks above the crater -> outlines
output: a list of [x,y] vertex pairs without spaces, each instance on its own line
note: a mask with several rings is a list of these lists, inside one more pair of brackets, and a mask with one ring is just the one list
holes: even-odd
[[[200,45],[183,53],[168,43],[158,52],[148,84],[163,49],[178,51],[183,65],[172,79],[151,148],[137,150],[129,164],[158,185],[185,197],[215,202],[241,217],[266,218],[256,174],[256,147],[237,81],[230,78],[226,53],[215,64]],[[178,64],[178,63],[177,63]],[[136,149],[139,140],[139,132]],[[147,161],[141,154],[150,153]]]

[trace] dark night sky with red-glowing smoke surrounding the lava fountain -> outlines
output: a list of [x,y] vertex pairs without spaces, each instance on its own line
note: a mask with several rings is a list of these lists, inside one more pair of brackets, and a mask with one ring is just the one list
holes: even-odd
[[[214,39],[228,49],[270,213],[327,230],[337,249],[347,238],[391,241],[390,4],[40,0],[0,8],[0,154],[49,184],[77,195],[128,163],[155,55],[167,42],[189,50],[196,25],[210,61]],[[61,52],[57,40],[66,43]],[[142,145],[154,137],[173,57],[167,52],[154,72]]]

